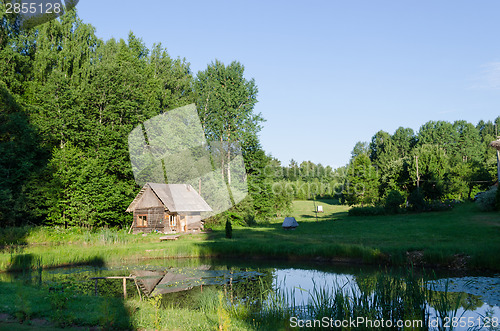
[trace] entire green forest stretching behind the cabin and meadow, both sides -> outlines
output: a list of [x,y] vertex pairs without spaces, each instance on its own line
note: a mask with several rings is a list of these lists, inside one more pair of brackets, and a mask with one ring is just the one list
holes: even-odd
[[338,169],[294,160],[282,166],[260,145],[257,84],[241,63],[214,60],[195,74],[186,59],[161,44],[148,49],[132,32],[103,41],[75,10],[21,30],[0,8],[0,24],[1,226],[126,227],[132,216],[125,210],[140,189],[128,134],[190,103],[207,139],[237,141],[245,161],[249,195],[214,222],[281,216],[293,199],[369,205],[416,187],[425,199],[465,200],[496,180],[488,144],[500,117],[379,131]]

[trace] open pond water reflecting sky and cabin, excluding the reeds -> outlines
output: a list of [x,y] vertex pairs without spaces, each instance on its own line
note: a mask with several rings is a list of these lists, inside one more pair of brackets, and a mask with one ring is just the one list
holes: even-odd
[[[54,289],[72,287],[81,293],[94,295],[96,288],[95,282],[91,280],[92,277],[133,275],[140,284],[136,286],[133,280],[127,281],[128,296],[138,296],[139,293],[140,295],[163,294],[162,300],[167,303],[189,306],[193,302],[190,299],[193,293],[202,292],[204,288],[218,287],[230,292],[231,300],[233,296],[235,300],[241,299],[240,302],[260,300],[260,305],[264,307],[269,306],[269,301],[278,297],[281,300],[278,300],[280,305],[295,307],[299,311],[301,307],[314,302],[334,305],[333,301],[324,301],[322,293],[334,297],[340,292],[353,298],[353,301],[361,302],[368,298],[374,303],[378,300],[377,296],[386,295],[384,291],[387,289],[379,286],[382,280],[389,284],[389,288],[406,293],[391,302],[398,300],[401,302],[408,298],[413,300],[415,295],[405,296],[408,295],[410,288],[410,285],[405,283],[408,282],[408,274],[407,270],[402,269],[388,271],[380,267],[359,265],[168,259],[102,267],[81,266],[0,274],[0,281],[23,280]],[[457,322],[474,323],[474,326],[457,325],[456,330],[480,329],[479,326],[485,318],[497,321],[493,323],[493,327],[498,325],[500,275],[415,271],[413,277],[417,279],[418,284],[423,284],[423,287],[429,290],[424,291],[429,320],[442,314],[440,302],[445,300],[449,310],[446,316],[450,318],[450,323],[451,318],[456,318]],[[399,281],[401,279],[402,282]],[[97,291],[98,295],[122,296],[122,282],[117,279],[99,280]],[[388,296],[394,295],[394,293],[388,294]],[[311,314],[311,310],[307,314]]]

